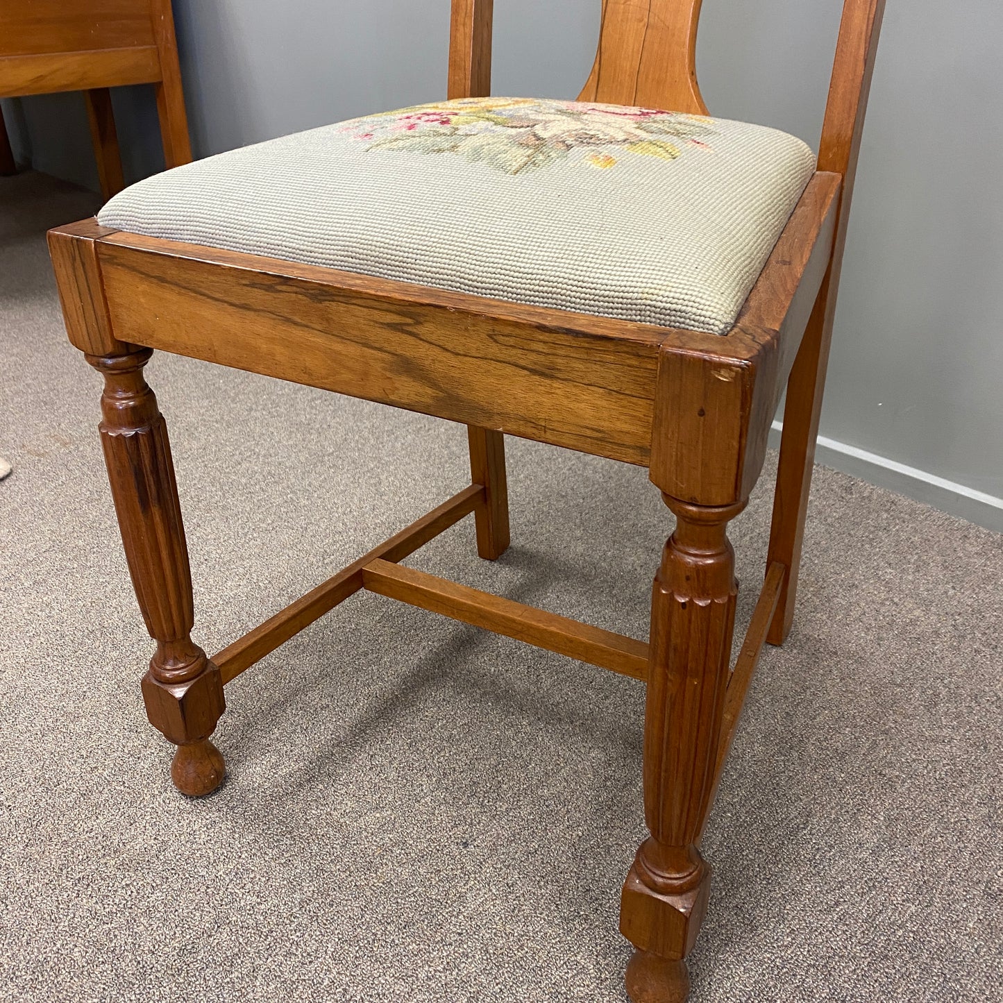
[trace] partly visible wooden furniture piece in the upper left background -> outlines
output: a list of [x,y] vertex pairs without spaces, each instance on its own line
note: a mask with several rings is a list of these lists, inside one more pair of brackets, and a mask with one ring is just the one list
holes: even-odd
[[[122,189],[109,87],[152,83],[169,168],[192,159],[171,0],[4,0],[0,97],[82,90],[101,194]],[[0,174],[13,156],[0,116]]]

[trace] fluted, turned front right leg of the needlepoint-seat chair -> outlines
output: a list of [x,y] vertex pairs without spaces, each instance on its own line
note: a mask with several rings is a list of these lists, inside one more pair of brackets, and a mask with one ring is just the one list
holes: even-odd
[[620,902],[620,930],[637,948],[627,970],[634,1003],[682,1003],[683,959],[700,930],[710,868],[697,849],[714,786],[735,620],[728,521],[744,505],[701,509],[668,496],[676,531],[651,605],[644,727],[642,844]]

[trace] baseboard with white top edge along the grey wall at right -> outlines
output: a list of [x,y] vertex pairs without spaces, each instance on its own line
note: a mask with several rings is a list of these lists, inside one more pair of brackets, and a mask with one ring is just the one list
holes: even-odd
[[[783,425],[774,421],[769,436],[770,445],[779,446],[782,430]],[[818,436],[815,462],[878,484],[879,487],[888,487],[978,526],[1003,533],[1003,498],[957,484],[953,480],[945,480],[926,470],[907,466],[824,435]]]

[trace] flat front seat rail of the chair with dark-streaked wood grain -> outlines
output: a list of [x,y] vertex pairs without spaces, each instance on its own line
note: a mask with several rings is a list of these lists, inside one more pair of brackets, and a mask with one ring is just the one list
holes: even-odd
[[561,311],[289,262],[264,273],[262,258],[134,235],[100,241],[97,253],[112,329],[139,344],[647,459],[663,329],[570,333],[578,317]]

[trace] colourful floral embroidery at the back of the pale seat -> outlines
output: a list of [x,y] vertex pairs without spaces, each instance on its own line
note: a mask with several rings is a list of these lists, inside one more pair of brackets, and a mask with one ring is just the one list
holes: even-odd
[[709,118],[652,108],[472,97],[370,115],[343,131],[369,141],[368,150],[458,153],[519,175],[582,149],[582,162],[600,170],[616,166],[621,150],[674,160],[683,144],[709,150],[702,137],[714,134],[712,126]]

